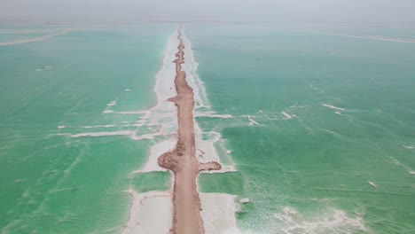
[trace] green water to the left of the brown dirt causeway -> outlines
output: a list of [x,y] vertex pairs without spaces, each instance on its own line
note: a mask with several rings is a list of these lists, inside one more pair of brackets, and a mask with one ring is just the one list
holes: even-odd
[[[149,189],[142,183],[152,178],[130,172],[152,143],[56,134],[121,130],[121,121],[137,121],[102,112],[113,100],[114,110],[153,105],[154,75],[173,30],[105,27],[0,47],[1,233],[121,232],[129,184]],[[108,124],[116,127],[84,129]],[[157,177],[153,186],[167,189]]]

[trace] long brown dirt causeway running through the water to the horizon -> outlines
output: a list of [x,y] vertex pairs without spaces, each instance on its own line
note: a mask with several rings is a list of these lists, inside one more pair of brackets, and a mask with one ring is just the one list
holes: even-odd
[[177,108],[177,142],[173,150],[161,154],[158,164],[172,171],[174,185],[172,191],[173,222],[171,233],[205,233],[200,214],[201,203],[197,190],[197,175],[201,170],[221,169],[218,162],[200,164],[196,158],[194,133],[194,93],[182,71],[184,64],[184,42],[181,28],[177,29],[176,78],[177,95],[168,98]]

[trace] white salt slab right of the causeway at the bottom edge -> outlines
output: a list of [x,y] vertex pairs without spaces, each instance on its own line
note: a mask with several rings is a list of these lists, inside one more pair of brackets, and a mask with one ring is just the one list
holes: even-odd
[[226,193],[200,193],[200,214],[207,234],[240,233],[235,219],[235,198]]

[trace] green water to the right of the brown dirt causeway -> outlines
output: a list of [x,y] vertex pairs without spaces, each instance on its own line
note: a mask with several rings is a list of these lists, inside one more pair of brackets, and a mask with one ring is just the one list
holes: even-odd
[[[235,116],[199,119],[222,133],[238,168],[201,175],[200,187],[252,201],[238,214],[243,233],[415,231],[415,151],[405,148],[415,144],[415,44],[273,27],[186,33],[214,110]],[[276,219],[284,207],[293,221]],[[365,230],[330,223],[335,210]]]

